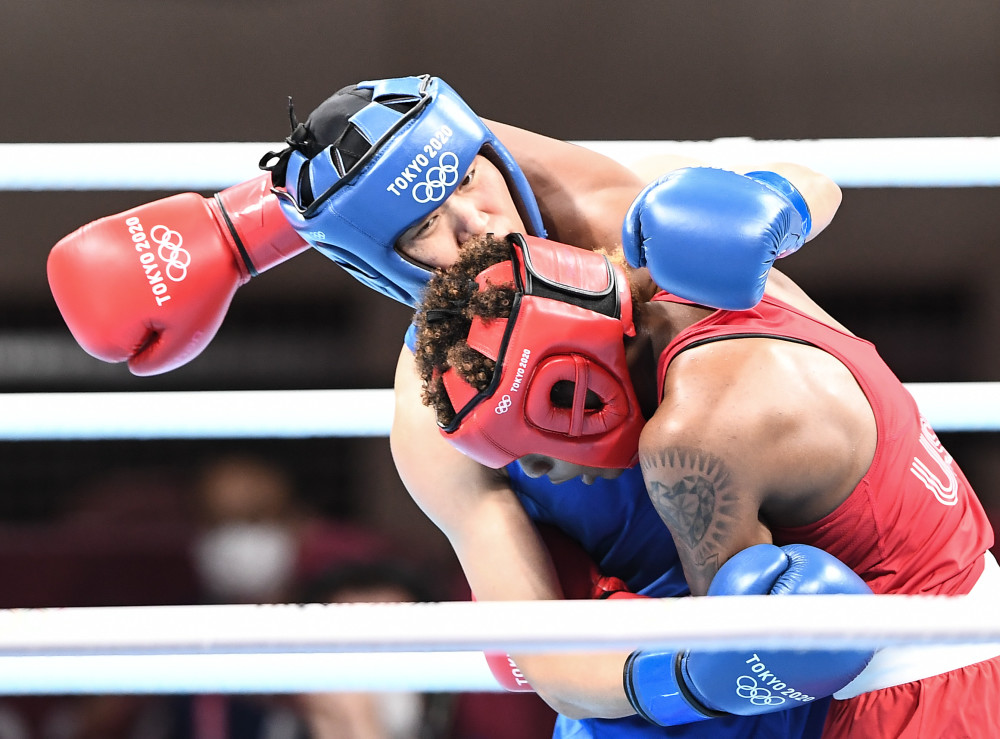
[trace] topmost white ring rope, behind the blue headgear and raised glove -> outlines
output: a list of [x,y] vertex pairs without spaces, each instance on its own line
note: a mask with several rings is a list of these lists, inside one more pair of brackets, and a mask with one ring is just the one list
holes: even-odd
[[[679,154],[717,166],[794,161],[841,187],[996,187],[1000,137],[578,141],[623,164]],[[0,190],[219,190],[260,174],[274,142],[0,144]]]

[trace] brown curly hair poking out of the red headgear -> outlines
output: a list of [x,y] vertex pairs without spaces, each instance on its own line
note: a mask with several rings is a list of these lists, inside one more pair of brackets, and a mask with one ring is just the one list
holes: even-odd
[[417,311],[417,372],[423,383],[423,402],[447,425],[455,417],[441,374],[454,368],[459,377],[485,390],[496,362],[471,348],[466,339],[472,319],[507,318],[514,305],[510,283],[480,290],[476,276],[487,267],[511,259],[511,245],[493,234],[463,244],[458,261],[434,273]]

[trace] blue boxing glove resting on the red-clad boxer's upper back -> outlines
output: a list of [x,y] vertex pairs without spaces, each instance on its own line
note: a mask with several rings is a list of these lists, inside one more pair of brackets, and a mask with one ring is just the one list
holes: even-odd
[[647,185],[622,227],[625,258],[662,289],[701,305],[760,302],[774,260],[805,243],[802,194],[775,172],[690,167]]

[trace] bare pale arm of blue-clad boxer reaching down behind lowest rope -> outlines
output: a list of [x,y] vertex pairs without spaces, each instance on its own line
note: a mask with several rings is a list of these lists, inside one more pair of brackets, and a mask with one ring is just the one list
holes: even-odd
[[[390,434],[403,483],[445,533],[479,600],[562,597],[552,560],[506,477],[462,455],[441,437],[420,401],[405,347],[396,368]],[[513,655],[538,694],[574,718],[618,718],[633,710],[622,688],[628,654]]]

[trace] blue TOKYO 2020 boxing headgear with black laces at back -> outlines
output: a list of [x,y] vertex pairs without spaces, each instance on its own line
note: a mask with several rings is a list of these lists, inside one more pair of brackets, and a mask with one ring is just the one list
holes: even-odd
[[271,171],[289,223],[358,280],[408,305],[420,299],[431,270],[395,244],[455,191],[477,154],[503,173],[528,231],[545,236],[517,162],[437,77],[345,87],[287,142],[284,151],[265,155],[261,167]]

